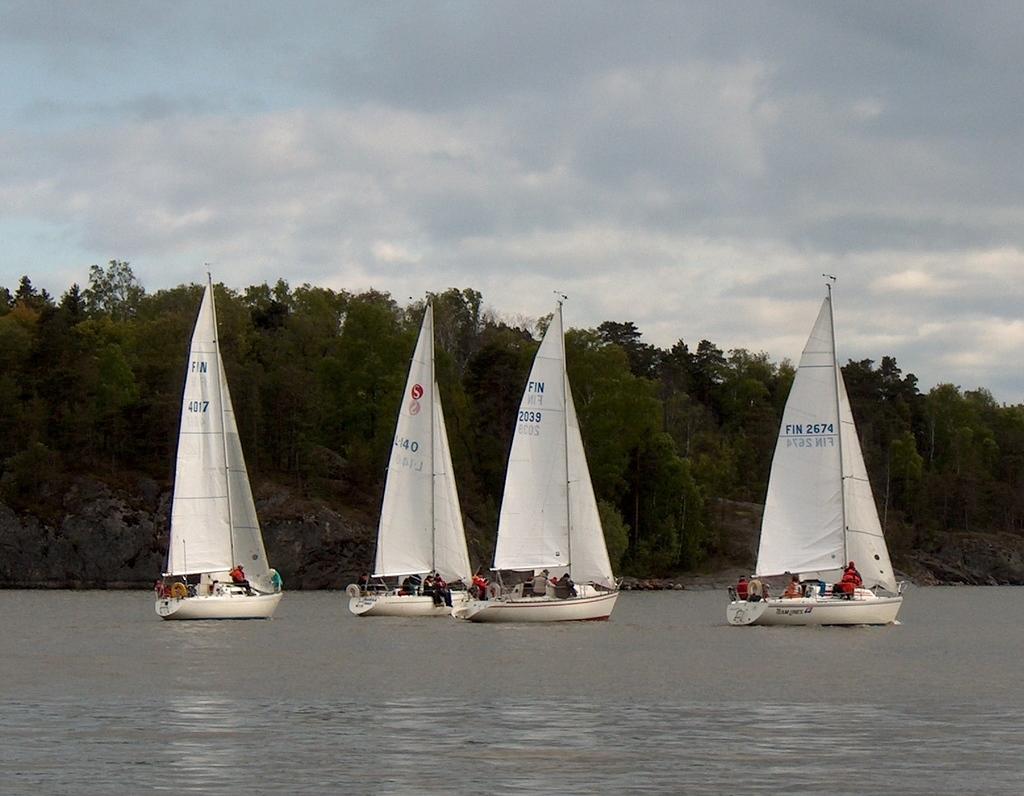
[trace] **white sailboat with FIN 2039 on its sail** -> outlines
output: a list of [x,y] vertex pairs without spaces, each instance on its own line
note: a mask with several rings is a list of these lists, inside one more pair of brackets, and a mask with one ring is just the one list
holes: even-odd
[[[527,584],[495,588],[453,616],[472,622],[608,619],[618,597],[590,479],[568,376],[562,302],[541,341],[519,404],[505,475],[494,569],[534,575]],[[548,575],[567,575],[574,596],[559,594]],[[540,593],[538,593],[540,592]]]

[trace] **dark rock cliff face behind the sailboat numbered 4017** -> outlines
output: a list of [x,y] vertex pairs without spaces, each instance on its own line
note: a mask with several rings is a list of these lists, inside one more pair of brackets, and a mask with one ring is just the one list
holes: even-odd
[[[0,587],[153,585],[164,567],[170,498],[150,479],[115,489],[80,478],[47,519],[0,503]],[[373,560],[376,531],[364,517],[279,487],[261,491],[256,508],[286,589],[344,588]]]

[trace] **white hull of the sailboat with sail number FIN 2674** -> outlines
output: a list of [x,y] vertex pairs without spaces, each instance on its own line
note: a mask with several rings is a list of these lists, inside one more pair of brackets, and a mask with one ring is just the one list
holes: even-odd
[[841,597],[770,598],[759,602],[733,600],[726,609],[730,625],[891,625],[903,597],[871,592],[853,599]]

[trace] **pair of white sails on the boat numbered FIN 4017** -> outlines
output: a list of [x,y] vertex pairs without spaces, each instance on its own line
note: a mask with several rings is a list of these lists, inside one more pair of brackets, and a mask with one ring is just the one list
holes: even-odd
[[209,281],[185,374],[167,573],[226,573],[241,563],[254,586],[269,591],[269,569],[220,358]]

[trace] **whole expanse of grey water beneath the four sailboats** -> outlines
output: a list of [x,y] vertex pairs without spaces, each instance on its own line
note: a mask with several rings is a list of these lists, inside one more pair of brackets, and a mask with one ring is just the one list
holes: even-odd
[[1024,589],[912,589],[888,628],[732,628],[725,599],[530,627],[0,591],[0,792],[1024,792]]

